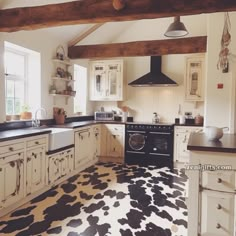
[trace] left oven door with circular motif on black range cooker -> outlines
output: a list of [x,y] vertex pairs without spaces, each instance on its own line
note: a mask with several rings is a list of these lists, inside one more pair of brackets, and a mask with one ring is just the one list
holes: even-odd
[[147,134],[145,131],[126,132],[126,152],[145,154]]

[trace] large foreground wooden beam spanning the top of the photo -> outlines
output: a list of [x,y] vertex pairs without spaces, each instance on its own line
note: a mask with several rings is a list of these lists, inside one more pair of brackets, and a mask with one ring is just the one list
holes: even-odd
[[37,7],[0,10],[0,32],[38,28],[153,19],[176,15],[194,15],[236,11],[235,0],[127,0],[117,11],[111,0],[80,0]]

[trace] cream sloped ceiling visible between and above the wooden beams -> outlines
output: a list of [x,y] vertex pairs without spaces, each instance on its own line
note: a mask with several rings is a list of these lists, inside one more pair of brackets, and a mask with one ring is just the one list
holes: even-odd
[[[48,5],[54,3],[63,3],[70,2],[73,0],[0,0],[0,9],[15,8],[15,7],[27,7],[27,6],[39,6],[39,5]],[[79,1],[79,0],[74,0]],[[181,18],[186,27],[188,24],[196,24],[196,27],[206,28],[206,15],[196,15],[196,16],[184,16]],[[165,29],[173,21],[173,18],[163,18],[163,19],[154,19],[154,20],[141,20],[141,21],[129,21],[129,22],[109,22],[102,25],[96,31],[91,33],[81,42],[79,45],[85,44],[105,44],[117,42],[117,39],[124,38],[121,35],[130,35],[132,41],[135,40],[145,40],[145,35],[143,33],[137,34],[137,31],[145,31],[147,39],[152,39],[157,35],[163,35]],[[71,26],[59,26],[44,28],[38,31],[42,34],[50,34],[53,37],[60,38],[62,42],[67,43],[72,39],[79,36],[82,32],[89,29],[93,24],[83,24],[83,25],[71,25]],[[154,27],[155,28],[154,28]],[[157,27],[156,27],[157,26]],[[149,28],[149,29],[148,29]],[[148,31],[149,30],[149,31]],[[133,31],[133,34],[130,32]],[[158,33],[159,31],[159,33]],[[205,29],[203,31],[206,31]],[[201,31],[202,32],[202,31]],[[202,35],[202,34],[200,34]],[[197,36],[193,34],[189,36]],[[126,37],[126,41],[129,40],[129,37]],[[158,39],[158,37],[156,38]],[[119,41],[119,40],[118,40]]]

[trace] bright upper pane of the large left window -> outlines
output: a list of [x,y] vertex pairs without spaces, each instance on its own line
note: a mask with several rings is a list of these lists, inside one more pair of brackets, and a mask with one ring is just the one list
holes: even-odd
[[13,52],[5,52],[5,72],[11,75],[25,76],[25,57]]

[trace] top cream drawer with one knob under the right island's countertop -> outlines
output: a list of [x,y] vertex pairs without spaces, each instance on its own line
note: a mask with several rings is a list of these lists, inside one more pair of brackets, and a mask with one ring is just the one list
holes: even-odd
[[202,171],[202,187],[217,191],[235,191],[234,171]]

